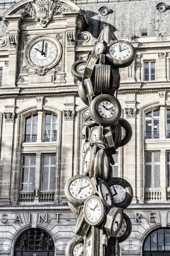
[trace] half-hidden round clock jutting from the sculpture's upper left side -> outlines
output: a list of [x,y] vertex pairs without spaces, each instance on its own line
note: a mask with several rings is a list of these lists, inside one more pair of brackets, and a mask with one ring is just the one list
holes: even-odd
[[82,81],[82,76],[83,76],[86,64],[87,64],[87,60],[79,60],[74,62],[74,64],[71,67],[71,75],[74,76],[75,79]]

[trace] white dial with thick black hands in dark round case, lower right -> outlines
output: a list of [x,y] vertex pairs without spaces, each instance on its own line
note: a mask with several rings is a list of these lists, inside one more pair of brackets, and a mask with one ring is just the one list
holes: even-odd
[[110,187],[114,203],[120,203],[126,198],[126,189],[123,186],[117,184]]

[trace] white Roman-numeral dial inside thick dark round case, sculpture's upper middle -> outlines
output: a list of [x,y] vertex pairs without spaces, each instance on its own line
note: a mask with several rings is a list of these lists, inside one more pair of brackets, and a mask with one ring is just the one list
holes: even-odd
[[109,101],[101,101],[98,105],[98,111],[103,118],[113,118],[115,116],[115,106]]

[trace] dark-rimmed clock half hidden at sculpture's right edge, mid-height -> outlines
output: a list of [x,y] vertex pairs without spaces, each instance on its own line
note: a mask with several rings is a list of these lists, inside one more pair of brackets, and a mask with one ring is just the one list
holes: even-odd
[[122,137],[120,142],[120,147],[122,147],[130,141],[132,137],[132,127],[130,123],[127,122],[127,120],[124,118],[120,118],[118,122],[122,130]]

